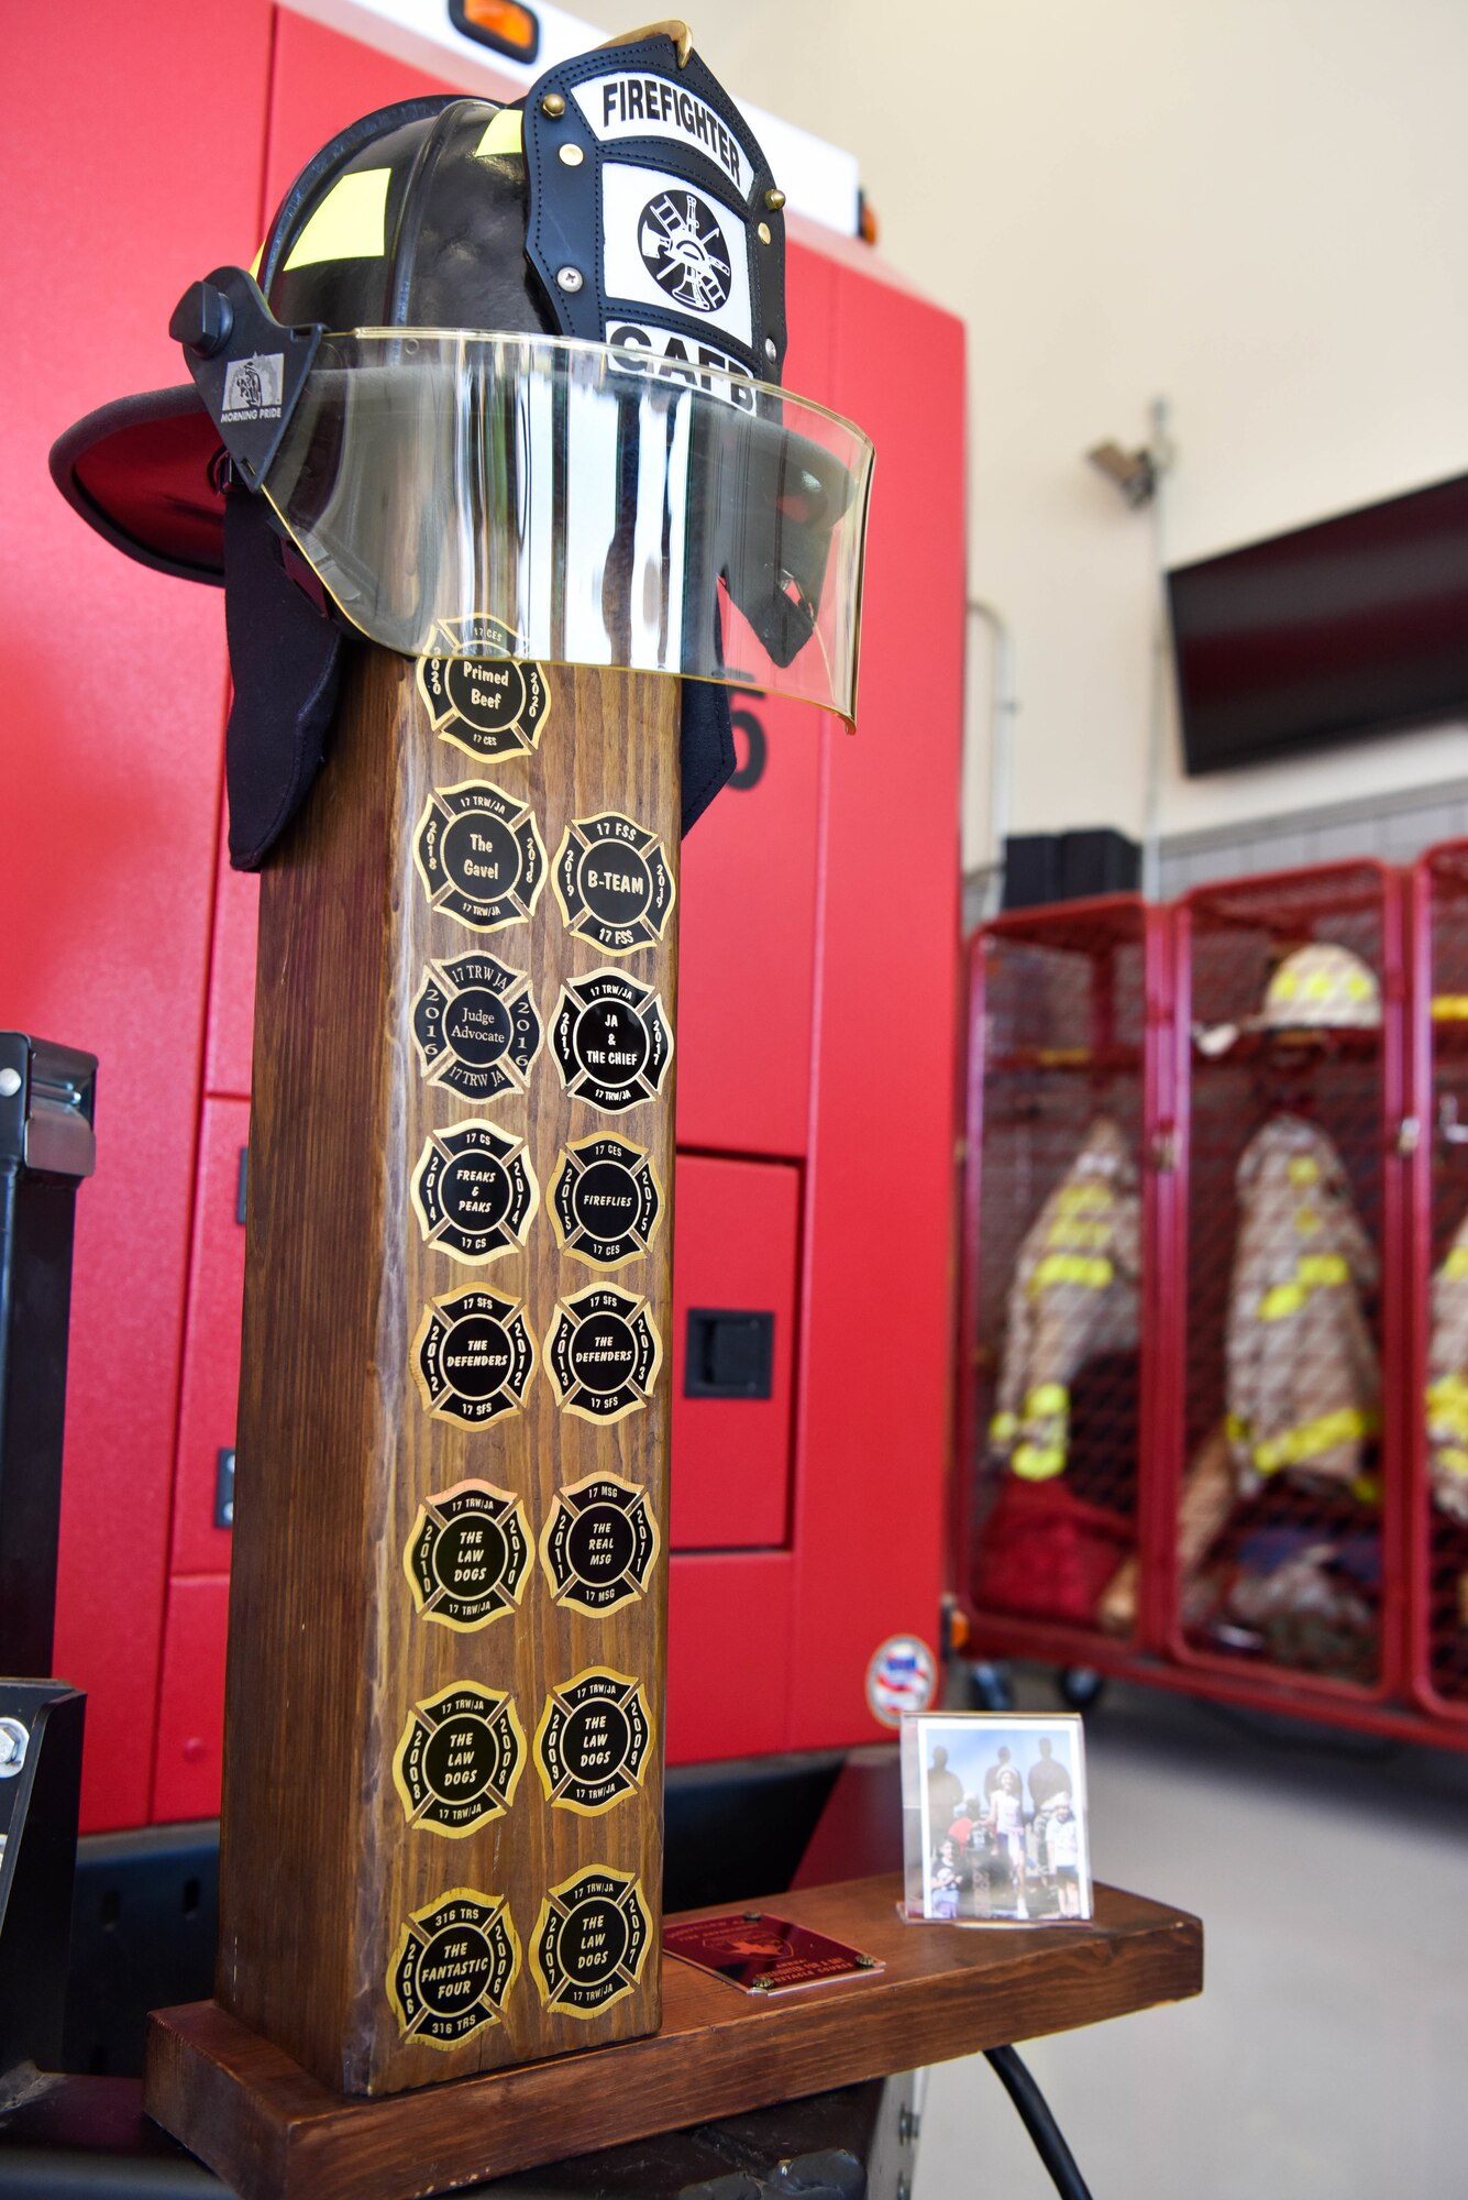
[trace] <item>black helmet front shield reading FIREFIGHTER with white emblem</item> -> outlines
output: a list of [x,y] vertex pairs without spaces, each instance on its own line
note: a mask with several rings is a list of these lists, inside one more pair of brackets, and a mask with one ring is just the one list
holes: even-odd
[[666,33],[549,68],[525,99],[525,253],[560,334],[668,374],[778,383],[782,194],[749,123]]

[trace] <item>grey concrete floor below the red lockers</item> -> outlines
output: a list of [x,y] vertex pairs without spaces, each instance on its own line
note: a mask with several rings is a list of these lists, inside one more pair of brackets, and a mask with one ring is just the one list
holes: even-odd
[[[1198,1912],[1206,1980],[1022,2048],[1094,2200],[1468,2193],[1468,1756],[1112,1685],[1086,1762],[1097,1877]],[[914,2200],[1053,2191],[982,2057],[936,2068]]]

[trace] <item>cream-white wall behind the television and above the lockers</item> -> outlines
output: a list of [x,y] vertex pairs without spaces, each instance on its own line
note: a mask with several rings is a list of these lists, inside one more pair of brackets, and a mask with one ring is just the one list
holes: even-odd
[[[1136,832],[1149,524],[1081,451],[1141,442],[1169,398],[1171,561],[1468,469],[1468,0],[703,0],[692,22],[736,92],[859,154],[883,255],[969,323],[969,594],[1015,638],[1015,827]],[[1455,728],[1185,781],[1169,728],[1163,829],[1466,770]]]

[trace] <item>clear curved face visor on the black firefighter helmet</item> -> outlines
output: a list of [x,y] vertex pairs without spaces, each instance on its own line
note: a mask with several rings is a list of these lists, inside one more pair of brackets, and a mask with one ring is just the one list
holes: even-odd
[[793,695],[850,724],[872,447],[765,383],[556,337],[325,337],[264,491],[402,656]]

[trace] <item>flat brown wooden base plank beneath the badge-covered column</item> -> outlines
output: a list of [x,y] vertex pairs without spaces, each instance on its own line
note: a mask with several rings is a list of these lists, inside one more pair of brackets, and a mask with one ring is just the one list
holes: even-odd
[[769,1998],[666,1956],[659,2033],[382,2099],[327,2092],[191,2002],[152,2017],[143,2105],[242,2200],[422,2200],[1202,1991],[1198,1918],[1116,1888],[1094,1899],[1088,1925],[965,1932],[903,1923],[897,1874],[778,1894],[760,1907],[881,1969]]

